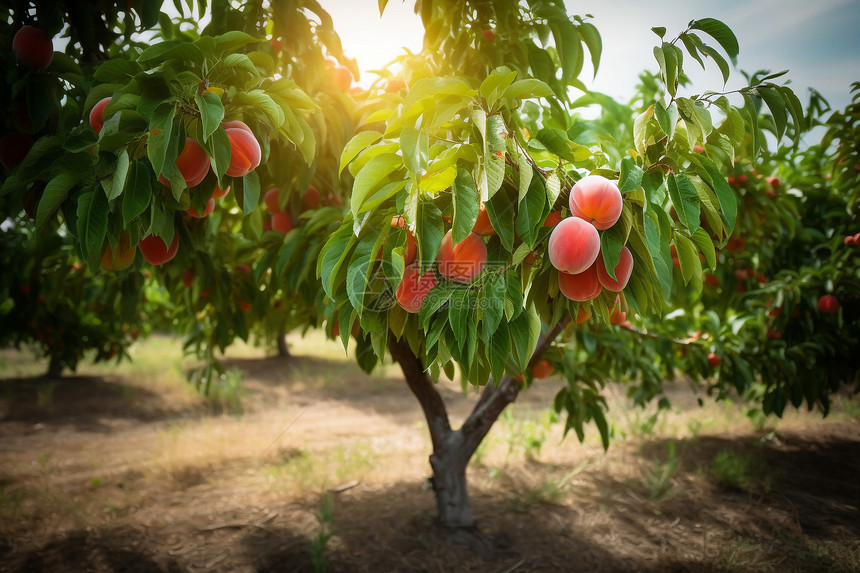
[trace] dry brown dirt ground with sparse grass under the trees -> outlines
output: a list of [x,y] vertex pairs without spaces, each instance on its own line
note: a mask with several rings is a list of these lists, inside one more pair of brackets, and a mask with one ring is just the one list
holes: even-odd
[[[679,384],[665,416],[612,410],[604,452],[561,439],[549,380],[473,460],[466,546],[397,371],[293,351],[229,358],[227,412],[134,365],[0,378],[0,572],[860,571],[856,401],[757,429]],[[441,391],[456,423],[475,397]]]

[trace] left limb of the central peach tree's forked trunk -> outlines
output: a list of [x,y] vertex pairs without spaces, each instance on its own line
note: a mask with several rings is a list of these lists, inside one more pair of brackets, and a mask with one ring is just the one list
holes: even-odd
[[427,427],[430,429],[433,451],[442,451],[443,444],[448,441],[452,433],[448,410],[445,408],[442,396],[436,391],[433,381],[424,371],[424,365],[412,352],[405,337],[397,340],[393,334],[389,334],[388,350],[391,352],[391,357],[400,365],[406,384],[421,404]]

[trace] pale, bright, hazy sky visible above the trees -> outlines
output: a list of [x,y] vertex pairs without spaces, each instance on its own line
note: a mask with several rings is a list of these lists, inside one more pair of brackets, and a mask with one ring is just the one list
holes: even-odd
[[[411,1],[390,0],[381,20],[376,0],[321,3],[363,72],[384,65],[404,46],[421,47],[422,28]],[[658,38],[652,26],[664,26],[667,37],[674,37],[690,20],[705,17],[722,20],[735,32],[739,69],[789,69],[786,77],[804,103],[812,86],[839,109],[850,101],[851,82],[860,81],[860,0],[588,0],[569,1],[567,7],[594,16],[603,57],[592,86],[614,97],[628,98],[638,72],[656,68],[651,50]],[[685,68],[695,92],[722,87],[715,66],[702,73],[690,60]],[[741,74],[732,76],[728,87],[740,87]],[[369,79],[362,78],[362,84]]]

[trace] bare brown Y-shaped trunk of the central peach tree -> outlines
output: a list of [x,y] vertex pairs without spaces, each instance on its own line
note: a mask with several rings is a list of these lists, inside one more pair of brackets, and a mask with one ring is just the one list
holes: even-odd
[[[529,366],[540,359],[567,322],[561,321],[541,337]],[[490,381],[463,426],[453,430],[442,396],[406,339],[395,340],[391,335],[388,349],[400,365],[406,384],[421,404],[430,430],[433,444],[430,467],[433,470],[438,523],[450,531],[473,530],[475,518],[469,502],[466,466],[502,411],[517,399],[523,384],[510,376],[502,378],[498,386]]]

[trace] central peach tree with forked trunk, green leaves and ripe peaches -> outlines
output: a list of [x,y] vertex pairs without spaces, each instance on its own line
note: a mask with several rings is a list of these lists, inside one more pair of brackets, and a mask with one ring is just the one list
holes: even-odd
[[[671,40],[654,30],[662,89],[619,133],[572,111],[569,88],[582,87],[586,54],[597,70],[601,40],[560,2],[416,11],[424,50],[400,59],[402,87],[380,94],[387,105],[344,149],[350,209],[318,272],[344,343],[344,325],[360,325],[359,364],[390,356],[403,370],[432,439],[439,521],[468,528],[468,460],[539,361],[568,380],[555,399],[567,430],[582,438],[594,422],[608,443],[600,382],[613,357],[588,321],[627,326],[628,313],[659,317],[673,293],[701,290],[738,217],[726,173],[755,125],[729,94],[680,91],[685,54],[727,79],[738,44],[717,20]],[[799,126],[797,98],[771,79],[741,101]],[[483,390],[455,430],[434,381],[456,370]]]

